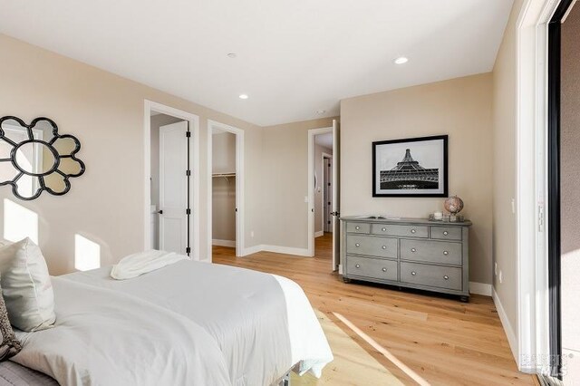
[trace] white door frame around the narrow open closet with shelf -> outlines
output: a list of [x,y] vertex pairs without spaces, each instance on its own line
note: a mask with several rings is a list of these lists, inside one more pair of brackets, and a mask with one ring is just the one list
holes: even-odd
[[208,120],[208,261],[212,261],[213,247],[213,130],[223,130],[236,135],[236,256],[246,256],[245,224],[245,147],[244,130],[218,121]]

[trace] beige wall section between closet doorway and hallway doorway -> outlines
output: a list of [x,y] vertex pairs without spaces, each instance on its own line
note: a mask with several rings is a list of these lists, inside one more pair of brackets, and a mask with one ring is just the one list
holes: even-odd
[[264,128],[265,244],[308,247],[308,130],[332,125],[328,118]]

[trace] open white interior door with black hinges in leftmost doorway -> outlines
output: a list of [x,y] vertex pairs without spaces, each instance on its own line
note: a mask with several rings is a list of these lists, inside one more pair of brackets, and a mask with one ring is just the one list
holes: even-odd
[[160,249],[181,255],[188,246],[188,122],[160,127]]

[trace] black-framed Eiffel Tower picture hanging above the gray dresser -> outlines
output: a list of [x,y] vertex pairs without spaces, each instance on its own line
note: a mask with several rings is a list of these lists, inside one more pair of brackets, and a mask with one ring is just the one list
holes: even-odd
[[[437,188],[432,188],[435,183],[433,179],[426,179],[420,181],[414,181],[415,186],[417,183],[422,185],[421,188],[381,188],[377,186],[377,158],[381,156],[381,152],[389,151],[389,145],[396,145],[392,146],[392,149],[401,150],[401,144],[409,144],[409,148],[406,149],[404,154],[401,154],[401,162],[408,159],[408,156],[412,157],[412,148],[413,144],[417,145],[417,142],[433,142],[433,146],[440,147],[441,154],[439,155],[440,159],[440,168],[442,167],[443,170],[440,172],[440,168],[437,169],[439,178],[437,179]],[[442,143],[441,143],[442,142]],[[417,198],[445,198],[449,195],[449,162],[448,162],[448,149],[449,149],[449,136],[448,135],[437,135],[437,136],[430,136],[430,137],[417,137],[417,138],[406,138],[400,140],[381,140],[372,142],[372,197],[417,197]],[[411,151],[410,151],[411,150]],[[416,165],[420,166],[420,159],[415,160],[412,159]],[[394,163],[393,168],[396,167],[401,162]],[[439,164],[439,163],[438,163]],[[430,170],[430,173],[433,174],[435,169],[426,169]],[[390,170],[391,171],[391,170]],[[387,172],[387,170],[380,170],[380,172]],[[396,171],[395,171],[396,172]],[[424,173],[423,173],[424,174]],[[443,179],[442,181],[440,179]]]

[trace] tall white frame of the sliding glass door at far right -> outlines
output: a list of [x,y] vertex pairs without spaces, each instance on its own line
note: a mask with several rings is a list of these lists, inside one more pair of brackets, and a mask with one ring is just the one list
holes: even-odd
[[502,323],[529,373],[550,367],[548,24],[561,1],[569,0],[526,0],[517,19],[517,326]]

